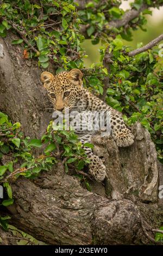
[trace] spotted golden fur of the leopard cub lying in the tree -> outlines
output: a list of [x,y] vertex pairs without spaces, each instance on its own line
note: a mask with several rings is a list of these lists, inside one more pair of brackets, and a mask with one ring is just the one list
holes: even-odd
[[[134,143],[134,136],[126,127],[121,113],[106,105],[102,100],[92,95],[87,89],[83,88],[83,74],[78,69],[72,69],[70,72],[61,72],[53,76],[49,72],[41,74],[43,86],[47,89],[48,96],[57,111],[77,111],[80,114],[83,111],[104,111],[109,113],[111,136],[115,139],[118,147],[128,147]],[[79,120],[79,119],[78,119]],[[80,141],[84,144],[91,143],[91,137],[94,131],[76,130]],[[97,180],[103,181],[106,176],[105,166],[98,156],[93,154],[92,149],[84,147],[87,157],[90,159],[89,172]]]

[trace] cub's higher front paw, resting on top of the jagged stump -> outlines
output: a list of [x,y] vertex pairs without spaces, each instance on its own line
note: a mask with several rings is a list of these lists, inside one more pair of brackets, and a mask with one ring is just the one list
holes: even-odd
[[129,129],[124,129],[117,135],[116,143],[118,147],[129,147],[134,143],[134,135]]

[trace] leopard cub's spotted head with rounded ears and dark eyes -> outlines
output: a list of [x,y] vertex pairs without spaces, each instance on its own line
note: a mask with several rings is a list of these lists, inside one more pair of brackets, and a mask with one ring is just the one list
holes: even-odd
[[50,72],[41,74],[41,81],[55,110],[62,112],[78,104],[83,89],[82,77],[83,74],[79,69],[61,72],[56,76]]

